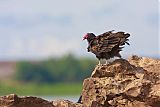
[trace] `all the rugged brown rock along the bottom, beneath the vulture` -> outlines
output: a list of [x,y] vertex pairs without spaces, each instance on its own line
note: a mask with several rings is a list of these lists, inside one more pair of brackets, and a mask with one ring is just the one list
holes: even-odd
[[96,66],[83,82],[79,102],[0,97],[0,107],[160,107],[160,60],[132,56]]

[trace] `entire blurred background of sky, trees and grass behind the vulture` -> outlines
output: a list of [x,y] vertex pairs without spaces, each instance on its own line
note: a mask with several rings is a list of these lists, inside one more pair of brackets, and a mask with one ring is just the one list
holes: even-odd
[[0,95],[76,100],[98,63],[87,32],[131,34],[124,58],[160,58],[158,0],[0,0]]

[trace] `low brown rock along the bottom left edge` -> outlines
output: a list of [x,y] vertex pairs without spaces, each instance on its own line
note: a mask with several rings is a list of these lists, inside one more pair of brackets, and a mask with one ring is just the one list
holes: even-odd
[[0,97],[0,107],[82,107],[68,100],[46,101],[38,97],[18,97],[15,94]]

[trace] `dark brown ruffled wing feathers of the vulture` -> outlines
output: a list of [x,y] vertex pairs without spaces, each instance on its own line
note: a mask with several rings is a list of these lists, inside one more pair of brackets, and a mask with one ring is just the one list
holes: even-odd
[[[124,32],[112,33],[112,31],[105,32],[101,35],[98,35],[95,40],[91,43],[91,49],[94,52],[102,53],[109,52],[115,46],[123,46],[125,43],[129,45],[128,37],[129,34],[125,34]],[[119,47],[118,50],[121,51],[123,47]]]

